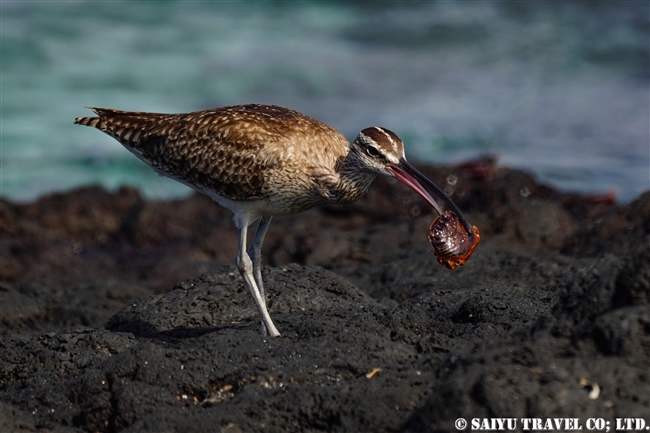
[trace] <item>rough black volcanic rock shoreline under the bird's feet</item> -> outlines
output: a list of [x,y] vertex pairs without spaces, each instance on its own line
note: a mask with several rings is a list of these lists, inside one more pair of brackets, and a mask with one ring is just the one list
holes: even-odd
[[278,339],[257,335],[232,216],[208,198],[0,200],[0,430],[650,423],[650,193],[617,205],[489,163],[421,168],[481,229],[474,256],[440,266],[428,206],[386,179],[278,217]]

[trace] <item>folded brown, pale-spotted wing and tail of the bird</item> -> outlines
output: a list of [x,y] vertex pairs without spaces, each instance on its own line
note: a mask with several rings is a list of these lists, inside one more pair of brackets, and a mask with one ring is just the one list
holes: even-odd
[[276,145],[282,131],[273,121],[277,113],[269,122],[263,110],[240,107],[249,106],[188,114],[93,108],[99,117],[75,123],[107,133],[159,173],[199,190],[230,200],[262,199],[269,170],[285,161]]

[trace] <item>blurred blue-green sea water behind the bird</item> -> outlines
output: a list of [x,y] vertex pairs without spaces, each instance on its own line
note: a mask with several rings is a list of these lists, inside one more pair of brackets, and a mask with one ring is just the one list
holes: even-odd
[[646,1],[1,3],[0,195],[190,190],[84,106],[290,107],[349,139],[385,126],[411,161],[500,164],[579,192],[650,188]]

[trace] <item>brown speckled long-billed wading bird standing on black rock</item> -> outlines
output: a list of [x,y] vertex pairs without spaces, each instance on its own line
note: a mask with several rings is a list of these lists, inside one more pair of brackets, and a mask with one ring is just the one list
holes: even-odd
[[[92,110],[99,117],[78,117],[75,123],[105,132],[158,173],[235,214],[237,267],[255,299],[263,335],[280,335],[266,308],[261,273],[262,242],[274,215],[353,202],[383,174],[407,184],[441,214],[422,183],[428,185],[473,233],[454,203],[406,161],[402,140],[385,128],[366,128],[350,144],[336,129],[272,105],[188,114]],[[258,219],[247,249],[248,227]]]

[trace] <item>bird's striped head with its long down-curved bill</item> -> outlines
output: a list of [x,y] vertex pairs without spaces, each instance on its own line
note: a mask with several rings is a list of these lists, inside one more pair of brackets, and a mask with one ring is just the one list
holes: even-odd
[[366,128],[352,142],[351,153],[354,154],[359,169],[396,178],[420,194],[439,215],[442,215],[442,209],[423,185],[431,188],[456,213],[469,236],[474,239],[472,225],[454,202],[406,160],[404,143],[397,134],[379,126]]

